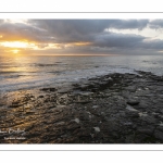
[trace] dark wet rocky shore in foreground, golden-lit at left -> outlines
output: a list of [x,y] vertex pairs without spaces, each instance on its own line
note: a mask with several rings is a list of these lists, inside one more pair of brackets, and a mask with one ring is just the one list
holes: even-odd
[[162,143],[163,76],[109,74],[0,100],[0,143]]

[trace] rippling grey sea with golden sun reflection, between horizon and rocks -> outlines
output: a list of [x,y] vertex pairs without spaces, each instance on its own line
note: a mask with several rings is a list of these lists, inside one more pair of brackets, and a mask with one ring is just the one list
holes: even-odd
[[163,55],[0,55],[0,93],[136,71],[162,76]]

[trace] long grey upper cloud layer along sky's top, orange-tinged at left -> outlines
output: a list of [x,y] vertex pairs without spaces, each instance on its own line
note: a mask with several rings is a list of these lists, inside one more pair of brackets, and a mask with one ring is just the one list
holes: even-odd
[[[143,29],[148,20],[28,20],[25,24],[1,21],[0,35],[3,39],[27,39],[33,41],[75,42],[91,41],[105,29]],[[159,26],[161,22],[150,22]]]

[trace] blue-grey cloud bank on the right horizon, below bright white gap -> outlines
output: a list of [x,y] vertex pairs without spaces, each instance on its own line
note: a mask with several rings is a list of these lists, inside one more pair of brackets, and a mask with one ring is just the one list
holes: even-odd
[[163,40],[150,40],[138,35],[102,34],[87,47],[78,47],[73,52],[112,54],[152,54],[163,50]]

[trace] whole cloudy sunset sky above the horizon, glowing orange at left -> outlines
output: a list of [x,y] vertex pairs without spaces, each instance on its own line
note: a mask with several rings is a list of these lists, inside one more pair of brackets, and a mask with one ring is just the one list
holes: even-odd
[[163,54],[163,20],[0,20],[0,54]]

